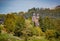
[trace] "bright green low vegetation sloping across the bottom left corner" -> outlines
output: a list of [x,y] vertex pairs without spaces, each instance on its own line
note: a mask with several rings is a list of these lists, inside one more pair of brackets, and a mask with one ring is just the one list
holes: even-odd
[[19,39],[8,33],[0,34],[0,41],[23,41],[23,40],[19,40]]

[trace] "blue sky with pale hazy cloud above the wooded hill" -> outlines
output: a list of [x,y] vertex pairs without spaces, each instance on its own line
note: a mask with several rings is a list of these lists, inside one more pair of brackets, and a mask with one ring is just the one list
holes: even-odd
[[35,8],[53,8],[60,5],[60,0],[0,0],[0,14],[28,11]]

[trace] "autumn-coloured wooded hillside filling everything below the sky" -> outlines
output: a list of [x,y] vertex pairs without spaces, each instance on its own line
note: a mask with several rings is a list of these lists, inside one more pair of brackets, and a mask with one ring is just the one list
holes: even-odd
[[60,5],[0,14],[0,41],[60,41]]

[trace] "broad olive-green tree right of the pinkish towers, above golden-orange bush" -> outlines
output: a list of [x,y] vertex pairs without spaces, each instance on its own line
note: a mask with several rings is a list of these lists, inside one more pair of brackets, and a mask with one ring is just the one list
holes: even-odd
[[51,19],[50,17],[46,16],[42,22],[40,22],[42,30],[46,31],[47,29],[55,29],[54,26],[54,19]]

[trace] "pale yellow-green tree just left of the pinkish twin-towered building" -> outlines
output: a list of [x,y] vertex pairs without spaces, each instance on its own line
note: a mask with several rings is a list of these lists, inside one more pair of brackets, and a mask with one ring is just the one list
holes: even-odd
[[23,33],[23,35],[31,36],[32,28],[33,28],[33,26],[31,25],[31,21],[29,19],[27,19],[27,20],[25,20],[25,28],[23,28],[23,30],[21,32]]

